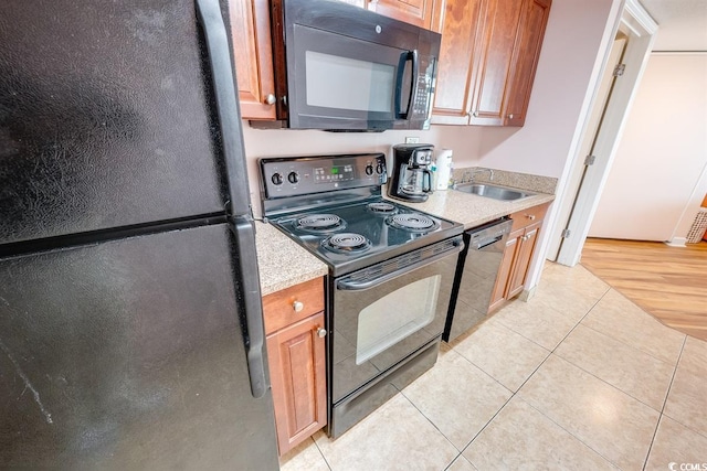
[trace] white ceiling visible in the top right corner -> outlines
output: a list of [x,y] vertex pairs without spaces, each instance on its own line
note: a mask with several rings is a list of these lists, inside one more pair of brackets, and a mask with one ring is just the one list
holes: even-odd
[[707,0],[639,0],[658,23],[653,51],[707,52]]

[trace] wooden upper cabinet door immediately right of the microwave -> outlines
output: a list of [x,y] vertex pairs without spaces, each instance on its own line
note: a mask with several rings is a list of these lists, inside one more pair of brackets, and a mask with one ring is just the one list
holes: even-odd
[[488,0],[447,0],[432,122],[467,125],[474,92],[476,36]]

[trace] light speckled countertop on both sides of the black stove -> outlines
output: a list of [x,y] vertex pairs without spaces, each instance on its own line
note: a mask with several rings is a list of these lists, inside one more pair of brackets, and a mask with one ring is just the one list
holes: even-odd
[[[457,173],[464,170],[455,169],[454,176],[461,178]],[[456,190],[446,190],[434,192],[424,203],[408,203],[399,200],[395,200],[395,202],[461,223],[465,229],[468,229],[517,211],[555,200],[555,195],[549,192],[555,191],[557,179],[499,170],[494,172],[494,181],[487,183],[519,188],[536,194],[516,201],[498,201]],[[483,183],[481,179],[477,182]],[[383,186],[382,191],[383,195],[386,195],[386,186]],[[255,231],[263,296],[328,274],[325,263],[302,248],[274,226],[256,223]]]

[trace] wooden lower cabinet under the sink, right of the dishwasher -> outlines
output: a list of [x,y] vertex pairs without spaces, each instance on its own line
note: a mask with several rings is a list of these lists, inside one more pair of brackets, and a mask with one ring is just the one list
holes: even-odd
[[541,204],[510,215],[513,228],[506,242],[488,312],[498,309],[507,300],[523,292],[540,227],[549,205],[550,203]]

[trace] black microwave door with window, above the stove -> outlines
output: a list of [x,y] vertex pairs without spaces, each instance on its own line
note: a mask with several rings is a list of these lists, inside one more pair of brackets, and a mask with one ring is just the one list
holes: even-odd
[[408,51],[294,25],[287,51],[291,127],[390,129],[410,104]]

